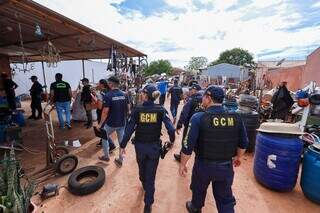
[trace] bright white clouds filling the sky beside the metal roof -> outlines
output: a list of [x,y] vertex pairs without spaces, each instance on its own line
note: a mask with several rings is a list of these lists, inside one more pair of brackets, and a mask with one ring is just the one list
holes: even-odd
[[[96,0],[93,3],[85,0],[38,0],[39,3],[111,38],[121,42],[131,41],[129,45],[148,54],[149,60],[170,59],[174,65],[180,67],[192,56],[206,56],[212,61],[223,50],[234,47],[248,49],[257,55],[265,49],[278,50],[320,42],[320,27],[304,28],[290,33],[278,30],[294,26],[301,19],[300,14],[289,11],[286,2],[274,8],[274,15],[265,14],[264,17],[242,21],[241,17],[252,12],[253,7],[265,8],[270,6],[271,1],[254,1],[239,10],[226,11],[237,1],[214,0],[213,11],[197,11],[192,6],[192,0],[166,0],[171,6],[187,9],[186,12],[167,12],[144,17],[136,11],[133,18],[122,16],[110,5],[122,1]],[[209,1],[202,0],[203,3]],[[272,4],[279,2],[272,1]],[[224,33],[222,37],[212,39],[221,32]],[[177,51],[160,51],[156,45],[159,42],[165,42],[166,48],[172,44],[177,47]]]

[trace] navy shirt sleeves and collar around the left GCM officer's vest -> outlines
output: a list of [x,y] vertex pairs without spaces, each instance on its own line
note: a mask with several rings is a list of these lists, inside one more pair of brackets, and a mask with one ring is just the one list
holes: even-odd
[[[152,101],[146,101],[146,102],[143,102],[143,106],[146,106],[146,107],[154,107],[154,103]],[[129,122],[128,124],[126,125],[126,129],[125,129],[125,132],[124,132],[124,136],[123,136],[123,139],[120,143],[120,147],[121,148],[126,148],[127,144],[128,144],[128,141],[130,140],[131,138],[131,135],[133,134],[133,132],[135,131],[136,129],[136,126],[137,126],[137,121],[135,120],[135,110],[133,109],[132,113],[131,113],[131,116],[130,116],[130,119],[129,119]],[[163,116],[163,123],[168,131],[168,134],[169,134],[169,137],[170,137],[170,141],[173,142],[174,141],[174,138],[175,138],[175,129],[174,129],[174,126],[168,116],[168,112],[166,111],[165,115]]]

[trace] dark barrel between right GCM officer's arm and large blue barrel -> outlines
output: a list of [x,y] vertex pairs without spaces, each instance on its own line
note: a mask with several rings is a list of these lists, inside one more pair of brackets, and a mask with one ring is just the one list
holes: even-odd
[[257,112],[241,113],[237,111],[247,130],[249,139],[248,152],[253,152],[256,144],[257,128],[260,125],[259,114]]

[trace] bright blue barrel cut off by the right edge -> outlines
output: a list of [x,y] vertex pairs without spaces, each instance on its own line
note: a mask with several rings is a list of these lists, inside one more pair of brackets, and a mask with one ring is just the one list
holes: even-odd
[[308,199],[320,204],[320,149],[313,145],[303,156],[300,185]]

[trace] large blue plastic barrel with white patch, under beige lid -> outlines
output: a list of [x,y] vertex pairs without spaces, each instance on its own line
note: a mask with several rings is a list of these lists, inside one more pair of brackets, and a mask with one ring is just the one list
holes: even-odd
[[295,135],[258,133],[253,173],[262,185],[291,191],[297,182],[303,142]]

